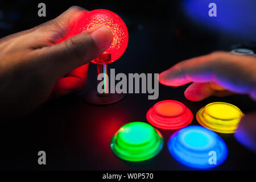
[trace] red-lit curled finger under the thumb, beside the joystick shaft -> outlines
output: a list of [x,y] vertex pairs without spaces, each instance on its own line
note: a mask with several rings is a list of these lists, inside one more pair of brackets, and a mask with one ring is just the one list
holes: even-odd
[[85,88],[88,66],[89,63],[82,65],[70,72],[67,77],[60,78],[52,90],[52,97],[61,97],[70,93],[81,92]]

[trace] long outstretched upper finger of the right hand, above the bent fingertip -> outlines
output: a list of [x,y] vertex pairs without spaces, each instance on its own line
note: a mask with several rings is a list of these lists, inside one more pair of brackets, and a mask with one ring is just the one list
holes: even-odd
[[192,81],[213,81],[233,92],[255,93],[256,58],[216,52],[182,61],[159,75],[159,82],[168,86],[181,86]]

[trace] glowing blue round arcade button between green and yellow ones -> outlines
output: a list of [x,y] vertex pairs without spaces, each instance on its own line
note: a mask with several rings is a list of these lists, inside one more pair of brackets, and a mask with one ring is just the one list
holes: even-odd
[[172,134],[168,149],[185,166],[207,169],[220,165],[228,156],[224,140],[202,126],[187,126]]

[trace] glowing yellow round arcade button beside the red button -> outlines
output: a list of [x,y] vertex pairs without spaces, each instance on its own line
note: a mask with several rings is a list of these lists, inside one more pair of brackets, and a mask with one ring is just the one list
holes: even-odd
[[237,106],[225,102],[210,103],[196,113],[200,125],[218,133],[235,133],[242,117]]

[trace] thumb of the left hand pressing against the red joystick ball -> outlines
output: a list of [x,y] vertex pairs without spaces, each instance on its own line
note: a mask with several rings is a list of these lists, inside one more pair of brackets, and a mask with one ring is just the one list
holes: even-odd
[[50,47],[40,49],[49,73],[63,77],[100,56],[112,43],[112,31],[108,27],[94,27]]

